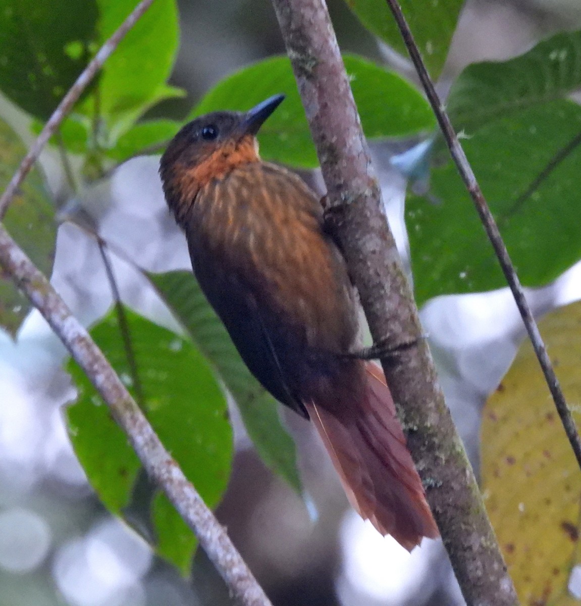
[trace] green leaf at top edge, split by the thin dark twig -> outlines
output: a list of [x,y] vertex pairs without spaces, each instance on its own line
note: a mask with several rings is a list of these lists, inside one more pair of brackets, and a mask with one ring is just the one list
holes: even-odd
[[[376,36],[408,56],[402,35],[385,0],[346,0],[361,22]],[[400,0],[430,76],[436,79],[446,57],[464,0]]]

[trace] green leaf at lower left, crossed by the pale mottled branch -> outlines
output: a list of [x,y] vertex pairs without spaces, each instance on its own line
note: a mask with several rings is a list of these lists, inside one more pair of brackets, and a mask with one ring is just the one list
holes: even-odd
[[[205,503],[213,507],[226,488],[233,451],[224,395],[189,339],[129,310],[126,313],[144,391],[145,414]],[[91,336],[131,391],[130,369],[116,316],[99,322]],[[99,498],[121,516],[130,503],[139,460],[87,376],[72,361],[68,371],[78,389],[76,404],[67,410],[71,442]],[[155,548],[187,573],[195,539],[178,518],[164,499],[155,499]],[[176,529],[179,535],[174,534]]]

